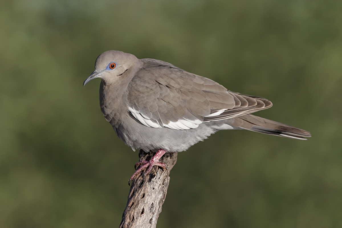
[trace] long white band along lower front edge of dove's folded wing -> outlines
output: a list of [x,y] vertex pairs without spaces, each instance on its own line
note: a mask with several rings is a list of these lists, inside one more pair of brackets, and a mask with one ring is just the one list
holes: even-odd
[[[140,111],[135,110],[132,107],[128,107],[128,111],[132,114],[132,116],[137,119],[140,123],[144,124],[147,127],[151,128],[171,128],[175,130],[188,130],[197,128],[199,124],[202,123],[201,120],[188,120],[185,118],[179,119],[177,122],[170,121],[168,124],[160,125],[156,120],[150,119],[148,116],[143,115]],[[160,114],[162,115],[162,114]]]

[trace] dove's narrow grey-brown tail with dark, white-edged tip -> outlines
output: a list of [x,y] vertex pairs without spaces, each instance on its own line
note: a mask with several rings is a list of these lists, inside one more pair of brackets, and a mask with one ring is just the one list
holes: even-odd
[[254,115],[245,115],[226,120],[227,124],[235,129],[246,129],[255,132],[261,132],[269,135],[278,135],[287,138],[297,138],[306,140],[305,137],[311,137],[310,132],[295,128],[290,125],[267,120]]

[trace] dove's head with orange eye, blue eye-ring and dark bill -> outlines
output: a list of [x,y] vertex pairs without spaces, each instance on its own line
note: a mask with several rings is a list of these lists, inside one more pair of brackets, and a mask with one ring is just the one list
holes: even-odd
[[83,86],[94,78],[105,82],[115,82],[124,72],[137,65],[139,59],[134,55],[120,51],[106,51],[99,55],[95,62],[95,70],[83,82]]

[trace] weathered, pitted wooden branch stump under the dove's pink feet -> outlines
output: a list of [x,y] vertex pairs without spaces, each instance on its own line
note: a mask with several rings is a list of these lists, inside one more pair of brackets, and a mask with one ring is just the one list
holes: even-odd
[[[140,150],[140,161],[149,161],[153,152]],[[177,161],[177,153],[165,153],[159,162],[165,163],[167,170],[154,166],[151,173],[143,178],[137,175],[131,184],[126,209],[122,214],[120,228],[155,228],[166,197],[170,182],[170,171]]]

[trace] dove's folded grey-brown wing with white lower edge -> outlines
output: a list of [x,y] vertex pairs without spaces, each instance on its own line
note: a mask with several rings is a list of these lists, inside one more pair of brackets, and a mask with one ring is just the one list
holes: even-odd
[[272,106],[261,97],[227,91],[224,86],[171,64],[142,59],[129,85],[128,111],[132,118],[152,128],[197,128],[202,122],[218,121]]

